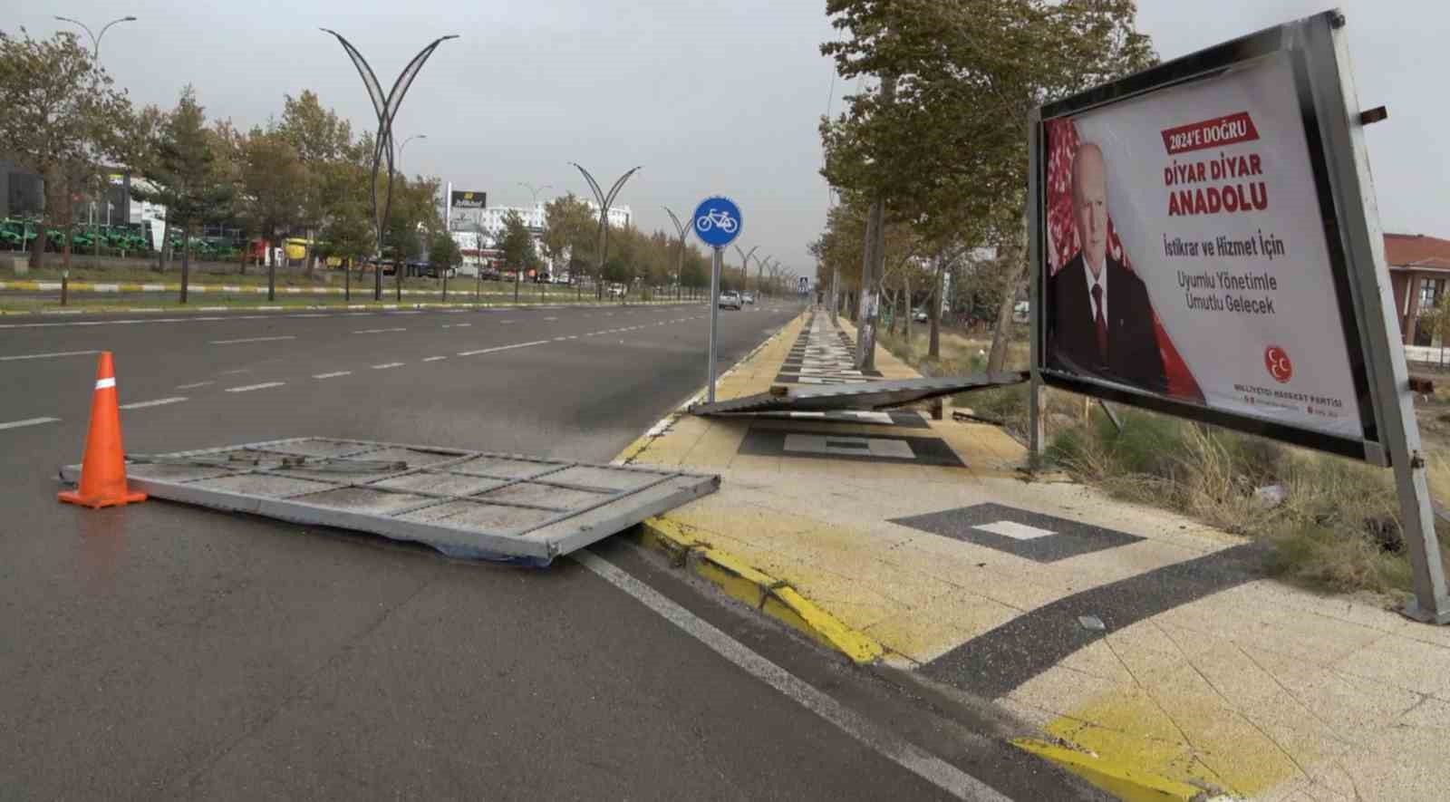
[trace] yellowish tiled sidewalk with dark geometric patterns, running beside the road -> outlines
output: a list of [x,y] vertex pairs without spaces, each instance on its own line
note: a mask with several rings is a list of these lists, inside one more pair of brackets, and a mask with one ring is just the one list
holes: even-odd
[[[731,370],[780,383],[915,377],[802,315]],[[832,419],[835,418],[835,419]],[[1000,429],[918,412],[676,413],[625,461],[721,492],[645,540],[863,664],[1035,725],[1021,747],[1130,799],[1443,799],[1450,629],[1264,579],[1262,553],[1067,481],[1028,481]]]

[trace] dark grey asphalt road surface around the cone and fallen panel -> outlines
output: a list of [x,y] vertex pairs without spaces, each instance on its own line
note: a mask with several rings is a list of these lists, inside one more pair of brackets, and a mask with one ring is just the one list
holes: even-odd
[[[796,310],[722,312],[722,368]],[[624,542],[594,554],[864,729],[579,561],[509,569],[167,502],[55,502],[86,437],[90,351],[115,352],[122,405],[146,405],[122,412],[133,452],[323,435],[608,461],[699,389],[708,313],[0,321],[0,799],[925,799],[947,796],[942,772],[1096,798],[1006,745],[989,711],[842,666]],[[947,767],[925,772],[938,782],[903,767],[902,744]]]

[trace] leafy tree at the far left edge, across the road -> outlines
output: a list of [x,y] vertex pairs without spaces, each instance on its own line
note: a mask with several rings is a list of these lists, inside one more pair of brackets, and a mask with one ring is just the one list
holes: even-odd
[[[22,28],[20,38],[0,32],[0,151],[41,174],[41,231],[64,223],[70,257],[71,189],[120,160],[130,102],[74,33],[32,39]],[[32,267],[45,261],[45,239],[35,238]]]

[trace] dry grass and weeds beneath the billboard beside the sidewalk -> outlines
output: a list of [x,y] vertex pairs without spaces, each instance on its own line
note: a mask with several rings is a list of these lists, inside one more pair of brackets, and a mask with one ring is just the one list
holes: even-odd
[[[1272,545],[1270,570],[1317,590],[1411,590],[1391,471],[1277,442],[1122,410],[1058,432],[1048,463],[1109,495],[1180,512]],[[1257,490],[1277,486],[1283,500]],[[1431,493],[1450,495],[1450,466],[1431,455]],[[1450,532],[1438,525],[1443,557]],[[1450,560],[1446,560],[1450,570]]]

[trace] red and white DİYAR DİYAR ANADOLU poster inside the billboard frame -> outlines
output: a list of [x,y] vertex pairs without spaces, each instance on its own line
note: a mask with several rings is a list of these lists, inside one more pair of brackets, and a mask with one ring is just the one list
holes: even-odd
[[1045,368],[1364,435],[1286,55],[1044,133]]

